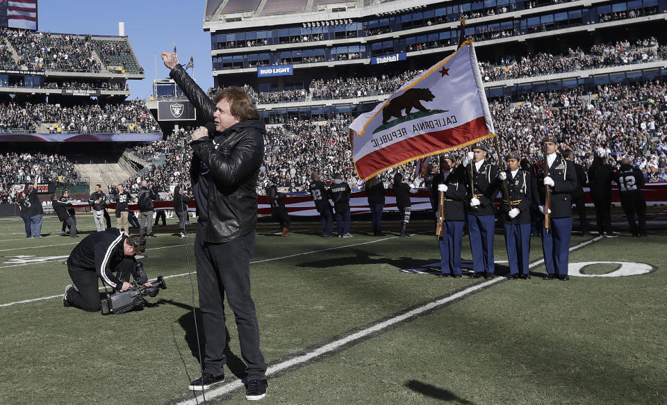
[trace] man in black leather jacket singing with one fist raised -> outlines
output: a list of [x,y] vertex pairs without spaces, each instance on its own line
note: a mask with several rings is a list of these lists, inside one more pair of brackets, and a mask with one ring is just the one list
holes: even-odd
[[195,237],[199,307],[206,348],[201,378],[190,390],[205,390],[224,381],[226,344],[224,294],[236,317],[241,356],[246,367],[246,399],[262,399],[268,386],[259,349],[259,324],[250,296],[250,255],[255,247],[256,183],[263,162],[264,123],[248,94],[224,88],[213,102],[188,76],[173,53],[163,52],[170,76],[215,131],[203,126],[192,133],[192,187],[199,220]]

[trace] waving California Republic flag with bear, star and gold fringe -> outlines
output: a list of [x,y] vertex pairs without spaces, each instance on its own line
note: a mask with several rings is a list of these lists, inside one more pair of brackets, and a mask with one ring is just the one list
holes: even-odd
[[472,41],[349,126],[363,179],[495,135]]

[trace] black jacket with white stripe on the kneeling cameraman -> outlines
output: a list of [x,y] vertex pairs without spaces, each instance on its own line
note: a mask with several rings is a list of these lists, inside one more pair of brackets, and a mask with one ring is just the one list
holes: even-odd
[[126,233],[115,228],[91,233],[69,254],[69,271],[97,272],[104,283],[114,290],[121,290],[123,280],[113,273],[133,269],[135,263],[135,258],[126,257],[124,254],[123,244],[126,238]]

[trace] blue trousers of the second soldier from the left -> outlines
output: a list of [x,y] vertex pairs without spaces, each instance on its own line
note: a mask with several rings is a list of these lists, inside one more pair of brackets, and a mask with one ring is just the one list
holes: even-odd
[[487,272],[493,274],[495,270],[493,263],[495,216],[468,214],[466,217],[468,217],[470,250],[472,250],[472,270],[475,270],[475,273]]

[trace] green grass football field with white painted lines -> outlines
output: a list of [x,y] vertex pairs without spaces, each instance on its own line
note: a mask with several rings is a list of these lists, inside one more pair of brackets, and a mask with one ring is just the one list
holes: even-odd
[[[83,238],[94,224],[78,219]],[[374,237],[370,223],[353,222],[354,238],[343,239],[318,237],[318,222],[293,223],[290,238],[258,225],[252,295],[269,366],[261,403],[664,404],[664,230],[573,235],[570,281],[542,279],[534,237],[531,280],[484,280],[437,278],[430,226],[413,222],[416,234],[397,238],[397,222],[386,221],[386,236]],[[204,401],[187,390],[199,377],[193,238],[174,235],[173,219],[154,229],[141,259],[167,289],[142,311],[108,316],[63,307],[64,261],[81,239],[58,235],[54,217],[43,239],[26,239],[18,218],[0,230],[0,403]],[[469,246],[463,238],[464,267]],[[509,271],[500,233],[495,261],[497,274]],[[227,315],[227,380],[206,403],[245,404]]]

